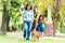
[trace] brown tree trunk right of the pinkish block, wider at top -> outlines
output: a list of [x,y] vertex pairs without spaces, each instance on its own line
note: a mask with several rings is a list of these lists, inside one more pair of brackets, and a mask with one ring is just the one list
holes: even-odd
[[52,20],[53,20],[53,27],[54,27],[54,32],[53,35],[55,35],[55,29],[56,29],[56,15],[60,13],[60,5],[61,4],[61,0],[53,0],[53,11],[52,12]]

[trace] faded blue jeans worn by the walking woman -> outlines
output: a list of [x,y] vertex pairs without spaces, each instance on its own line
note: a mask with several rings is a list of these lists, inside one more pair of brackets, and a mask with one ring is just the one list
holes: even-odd
[[29,40],[30,38],[30,30],[31,30],[32,23],[24,20],[24,38]]

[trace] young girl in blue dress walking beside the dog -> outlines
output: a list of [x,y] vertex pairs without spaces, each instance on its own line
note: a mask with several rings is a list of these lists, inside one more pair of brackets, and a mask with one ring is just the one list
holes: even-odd
[[38,31],[42,38],[43,33],[43,16],[40,15],[39,19],[36,22],[36,31]]

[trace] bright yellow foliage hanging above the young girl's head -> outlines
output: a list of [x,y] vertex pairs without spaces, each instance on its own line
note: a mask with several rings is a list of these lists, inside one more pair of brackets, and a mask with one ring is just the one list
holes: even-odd
[[44,11],[47,10],[47,8],[48,8],[48,0],[41,0],[37,18],[39,17],[39,15],[44,14]]

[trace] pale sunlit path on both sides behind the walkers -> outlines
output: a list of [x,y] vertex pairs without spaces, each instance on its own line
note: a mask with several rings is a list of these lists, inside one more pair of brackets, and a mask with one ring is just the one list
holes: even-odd
[[[13,32],[6,32],[6,35],[14,37],[14,38],[22,38],[23,39],[23,32],[13,31]],[[42,39],[50,39],[50,40],[65,40],[65,33],[56,33],[56,37],[43,37]]]

